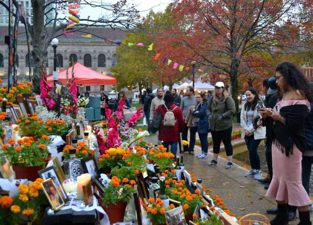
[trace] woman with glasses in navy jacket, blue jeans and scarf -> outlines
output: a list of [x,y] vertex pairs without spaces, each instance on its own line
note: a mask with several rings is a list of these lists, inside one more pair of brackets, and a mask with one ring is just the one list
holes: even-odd
[[191,111],[191,115],[195,118],[192,121],[193,129],[196,129],[200,142],[201,142],[201,154],[197,155],[198,158],[208,158],[208,116],[205,112],[208,106],[208,99],[205,98],[204,93],[196,94],[197,105]]

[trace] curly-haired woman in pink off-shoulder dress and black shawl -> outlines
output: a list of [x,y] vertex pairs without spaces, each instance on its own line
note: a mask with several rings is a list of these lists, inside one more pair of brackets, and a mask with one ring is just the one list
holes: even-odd
[[266,196],[275,197],[278,214],[271,224],[288,224],[289,204],[298,208],[298,225],[311,225],[311,200],[302,185],[301,159],[306,146],[304,121],[310,111],[312,92],[308,80],[294,63],[279,63],[275,73],[277,85],[285,90],[284,97],[273,109],[259,109],[262,117],[270,116],[273,123],[269,131],[273,135],[273,178]]

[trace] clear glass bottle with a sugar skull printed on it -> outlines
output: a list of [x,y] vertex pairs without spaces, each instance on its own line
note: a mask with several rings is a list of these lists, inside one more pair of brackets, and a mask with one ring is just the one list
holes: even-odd
[[76,157],[76,149],[69,149],[70,157],[63,161],[65,179],[74,179],[77,181],[77,177],[83,174],[83,165],[80,162],[81,158]]

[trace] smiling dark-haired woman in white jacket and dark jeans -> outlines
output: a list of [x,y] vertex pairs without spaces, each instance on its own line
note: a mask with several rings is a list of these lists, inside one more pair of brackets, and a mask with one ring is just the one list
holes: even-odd
[[[265,138],[266,128],[256,124],[260,118],[259,114],[259,95],[254,88],[246,90],[247,102],[244,103],[240,114],[240,125],[242,127],[241,138],[246,141],[249,150],[251,170],[245,177],[254,179],[262,178],[260,158],[257,152],[261,139]],[[262,103],[262,102],[260,102]],[[263,106],[263,104],[262,104]]]

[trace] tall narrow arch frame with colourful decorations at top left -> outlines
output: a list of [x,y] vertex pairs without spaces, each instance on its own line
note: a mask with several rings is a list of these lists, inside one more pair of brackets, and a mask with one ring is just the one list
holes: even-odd
[[[17,32],[18,32],[18,24],[20,17],[23,17],[23,24],[25,25],[26,30],[26,39],[27,39],[27,46],[28,46],[28,68],[29,68],[29,81],[32,82],[32,68],[30,62],[30,42],[28,36],[28,25],[27,25],[27,18],[25,15],[24,6],[22,4],[18,5],[16,10],[16,18],[13,27],[13,1],[9,0],[9,73],[8,73],[8,90],[13,86],[17,86]],[[12,76],[13,74],[13,76]]]

